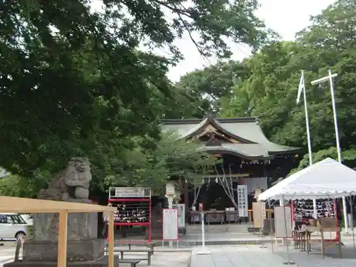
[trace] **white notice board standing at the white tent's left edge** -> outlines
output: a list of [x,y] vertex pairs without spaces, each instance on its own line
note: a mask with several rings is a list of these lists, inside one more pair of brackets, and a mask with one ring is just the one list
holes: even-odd
[[[286,218],[284,217],[283,208],[286,212]],[[292,210],[290,209],[290,206],[274,207],[274,229],[276,231],[276,237],[292,237]]]

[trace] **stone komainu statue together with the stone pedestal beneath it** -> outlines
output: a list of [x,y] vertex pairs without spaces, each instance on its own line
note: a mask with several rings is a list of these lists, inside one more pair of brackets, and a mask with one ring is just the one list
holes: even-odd
[[[73,157],[48,189],[38,193],[38,199],[90,203],[91,179],[89,160]],[[57,261],[58,222],[58,214],[33,214],[32,240],[24,243],[23,261]],[[103,256],[105,240],[98,239],[98,213],[68,214],[67,231],[68,261],[96,261]]]

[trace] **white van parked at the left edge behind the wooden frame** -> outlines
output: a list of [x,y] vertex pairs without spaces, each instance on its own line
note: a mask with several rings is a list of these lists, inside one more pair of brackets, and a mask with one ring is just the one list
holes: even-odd
[[16,213],[0,213],[0,240],[19,239],[26,236],[28,224]]

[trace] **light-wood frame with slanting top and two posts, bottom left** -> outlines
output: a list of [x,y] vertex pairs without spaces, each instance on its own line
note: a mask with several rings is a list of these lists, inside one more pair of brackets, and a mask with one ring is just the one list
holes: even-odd
[[11,213],[58,213],[58,261],[57,266],[67,266],[68,213],[108,212],[109,214],[109,267],[114,267],[114,211],[115,207],[96,204],[73,203],[43,199],[0,196],[0,212]]

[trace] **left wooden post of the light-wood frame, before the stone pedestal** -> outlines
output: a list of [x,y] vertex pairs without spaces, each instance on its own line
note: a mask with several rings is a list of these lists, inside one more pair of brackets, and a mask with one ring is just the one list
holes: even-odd
[[57,267],[67,266],[67,231],[68,211],[63,209],[59,212],[58,229],[58,261]]

